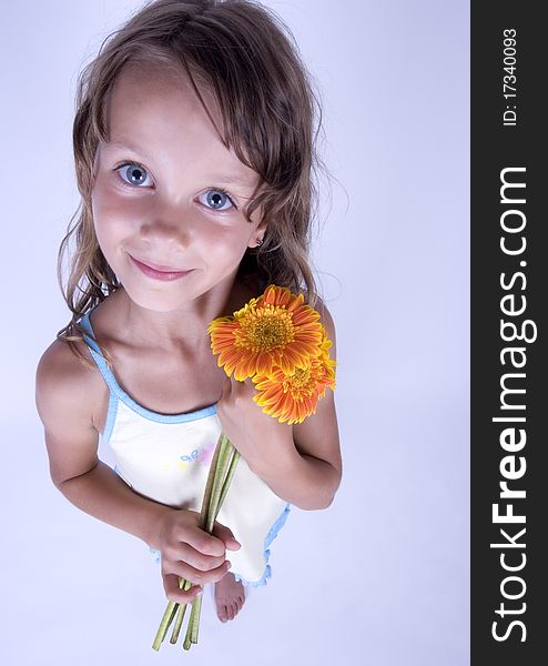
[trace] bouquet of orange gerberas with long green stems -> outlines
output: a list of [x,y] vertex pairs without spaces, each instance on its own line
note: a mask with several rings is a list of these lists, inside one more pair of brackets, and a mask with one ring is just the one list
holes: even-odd
[[[335,389],[335,362],[329,357],[332,342],[319,322],[319,314],[304,304],[303,294],[270,285],[233,316],[215,319],[207,327],[211,349],[219,354],[219,366],[230,377],[243,382],[251,377],[257,393],[253,400],[263,412],[281,423],[302,423],[316,412],[327,387]],[[221,433],[205,485],[200,527],[209,534],[229,491],[240,454]],[[182,589],[192,583],[179,579]],[[175,620],[170,642],[175,644],[187,604],[169,602],[154,638],[160,649]],[[202,595],[192,602],[183,648],[197,643]]]

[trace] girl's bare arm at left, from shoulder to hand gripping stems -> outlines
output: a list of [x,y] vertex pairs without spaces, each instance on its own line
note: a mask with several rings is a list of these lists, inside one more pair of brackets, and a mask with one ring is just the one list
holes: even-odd
[[217,523],[215,536],[209,535],[199,527],[196,512],[172,508],[133,492],[99,460],[91,407],[97,381],[93,371],[60,341],[40,360],[35,397],[51,478],[85,513],[161,551],[166,596],[187,603],[200,589],[179,589],[179,576],[195,584],[221,579],[227,571],[225,547],[240,545],[227,527]]

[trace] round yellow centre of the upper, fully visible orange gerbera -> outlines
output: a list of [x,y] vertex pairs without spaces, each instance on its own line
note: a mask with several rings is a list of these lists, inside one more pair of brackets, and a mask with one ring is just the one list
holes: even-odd
[[236,344],[253,352],[270,352],[284,347],[295,339],[291,314],[280,306],[266,305],[248,310],[234,332]]

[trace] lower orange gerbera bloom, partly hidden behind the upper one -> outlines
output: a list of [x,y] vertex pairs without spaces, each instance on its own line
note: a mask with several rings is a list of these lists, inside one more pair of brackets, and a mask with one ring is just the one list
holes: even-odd
[[253,383],[257,394],[253,400],[280,421],[302,423],[316,413],[317,402],[327,387],[335,390],[335,361],[328,354],[309,356],[304,369],[297,367],[287,375],[281,367],[268,375],[255,375]]

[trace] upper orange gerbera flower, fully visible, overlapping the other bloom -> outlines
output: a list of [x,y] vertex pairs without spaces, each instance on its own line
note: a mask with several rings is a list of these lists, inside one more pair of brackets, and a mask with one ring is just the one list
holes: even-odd
[[319,314],[283,286],[270,285],[233,317],[217,317],[207,327],[217,364],[237,381],[270,374],[275,366],[292,374],[317,356],[323,333]]

